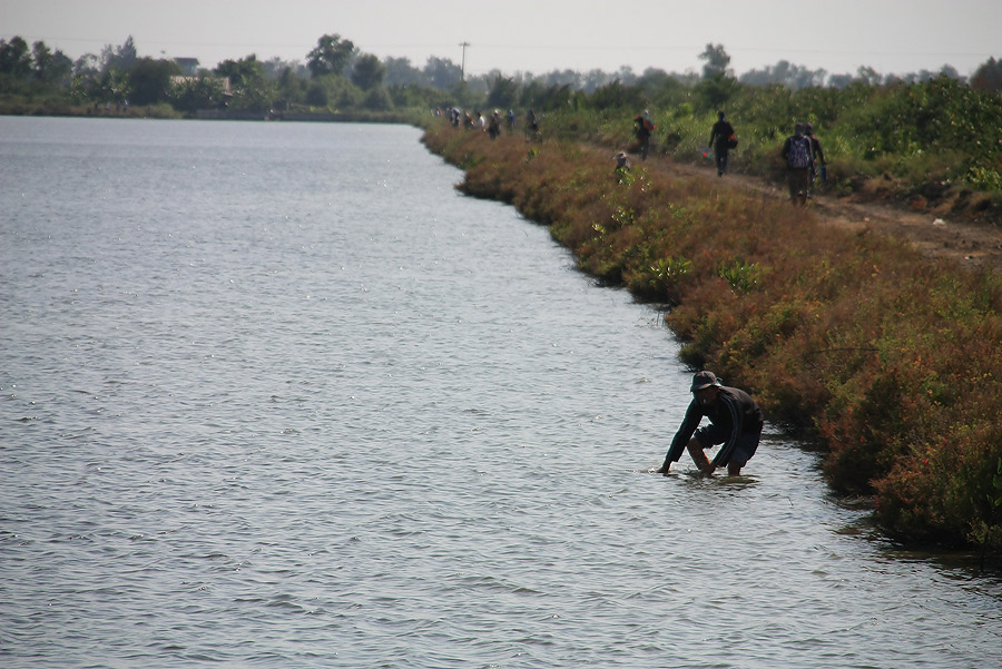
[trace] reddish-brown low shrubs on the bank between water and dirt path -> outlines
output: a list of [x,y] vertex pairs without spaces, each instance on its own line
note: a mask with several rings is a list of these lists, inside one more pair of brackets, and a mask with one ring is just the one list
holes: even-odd
[[656,160],[617,173],[577,141],[444,121],[424,141],[465,170],[463,191],[514,205],[583,270],[669,305],[684,361],[816,437],[834,488],[873,494],[890,532],[1002,549],[1002,276]]

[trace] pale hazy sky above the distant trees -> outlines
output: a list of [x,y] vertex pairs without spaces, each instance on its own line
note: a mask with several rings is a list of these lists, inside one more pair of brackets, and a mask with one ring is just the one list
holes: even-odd
[[699,71],[708,42],[740,75],[786,59],[829,73],[970,75],[1002,58],[1000,0],[0,0],[0,39],[43,40],[76,59],[132,36],[139,56],[194,57],[203,67],[256,53],[305,61],[336,33],[366,53],[430,56],[466,72],[621,66]]

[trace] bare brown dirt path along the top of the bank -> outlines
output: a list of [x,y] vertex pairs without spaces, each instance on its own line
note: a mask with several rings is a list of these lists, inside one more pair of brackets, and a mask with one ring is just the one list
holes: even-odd
[[[657,165],[679,176],[717,178],[716,170],[711,166],[704,168],[662,160],[648,160],[646,165],[648,167]],[[723,179],[767,196],[788,198],[785,184],[773,184],[757,177],[736,174],[725,175]],[[989,267],[993,272],[1002,272],[1002,228],[989,223],[969,223],[927,211],[910,211],[900,207],[826,195],[813,198],[808,209],[831,225],[856,230],[868,227],[887,235],[907,237],[916,248],[930,257],[950,258],[970,267]]]

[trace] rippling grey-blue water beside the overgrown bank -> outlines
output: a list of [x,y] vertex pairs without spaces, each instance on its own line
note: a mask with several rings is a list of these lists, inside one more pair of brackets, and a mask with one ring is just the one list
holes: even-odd
[[0,118],[3,667],[996,666],[1002,586],[402,126]]

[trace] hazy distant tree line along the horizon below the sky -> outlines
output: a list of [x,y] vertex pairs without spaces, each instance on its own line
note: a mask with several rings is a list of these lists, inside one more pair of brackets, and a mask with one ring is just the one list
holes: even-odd
[[[43,41],[29,46],[21,37],[0,40],[0,99],[6,108],[18,104],[41,111],[70,107],[121,110],[128,106],[160,106],[193,115],[202,109],[232,111],[342,111],[392,110],[459,105],[463,107],[514,106],[556,108],[584,94],[598,99],[609,96],[652,98],[666,89],[692,88],[709,106],[723,105],[741,86],[782,86],[789,90],[844,88],[921,82],[937,77],[962,80],[944,66],[937,72],[881,75],[859,68],[854,75],[829,75],[780,60],[775,66],[736,76],[723,45],[707,45],[699,58],[703,71],[667,72],[647,68],[641,73],[629,67],[615,72],[553,70],[544,75],[500,70],[464,77],[462,68],[448,58],[430,57],[419,68],[406,58],[380,59],[361,51],[338,35],[324,35],[305,55],[303,62],[279,58],[258,60],[252,53],[227,59],[215,68],[194,71],[184,59],[140,57],[131,36],[120,46],[106,45],[100,53],[71,60]],[[994,58],[965,82],[975,89],[1002,90],[1002,62]]]

